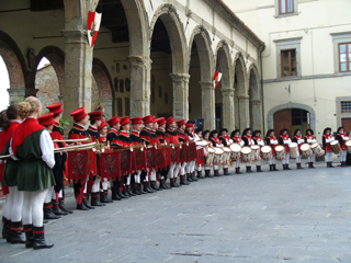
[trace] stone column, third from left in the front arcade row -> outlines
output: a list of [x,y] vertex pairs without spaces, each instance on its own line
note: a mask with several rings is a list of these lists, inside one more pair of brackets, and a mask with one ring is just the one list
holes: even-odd
[[186,73],[171,73],[173,81],[173,118],[189,119],[189,79]]

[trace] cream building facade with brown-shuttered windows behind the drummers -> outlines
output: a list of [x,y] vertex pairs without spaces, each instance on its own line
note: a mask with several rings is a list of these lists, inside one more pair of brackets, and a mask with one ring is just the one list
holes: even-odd
[[265,44],[265,129],[351,130],[351,1],[225,2]]

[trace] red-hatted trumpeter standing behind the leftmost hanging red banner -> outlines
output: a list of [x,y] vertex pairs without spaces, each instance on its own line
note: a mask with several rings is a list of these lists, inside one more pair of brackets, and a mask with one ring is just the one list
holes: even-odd
[[[68,134],[68,139],[91,140],[89,133],[84,128],[88,123],[88,114],[86,113],[86,108],[79,107],[72,111],[70,115],[73,117],[75,124]],[[73,182],[78,210],[95,209],[93,206],[90,206],[88,202],[88,180],[91,172],[95,173],[95,171],[93,170],[95,170],[95,163],[91,163],[91,165],[89,167],[89,173],[87,174],[86,179],[79,179],[78,182]]]

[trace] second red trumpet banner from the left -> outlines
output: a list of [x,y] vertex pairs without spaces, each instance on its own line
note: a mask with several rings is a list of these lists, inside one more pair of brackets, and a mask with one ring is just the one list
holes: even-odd
[[99,157],[99,174],[101,178],[118,178],[121,180],[120,151],[102,152]]

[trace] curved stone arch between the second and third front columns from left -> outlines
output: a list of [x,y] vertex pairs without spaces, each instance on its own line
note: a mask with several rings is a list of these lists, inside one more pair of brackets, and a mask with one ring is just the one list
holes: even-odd
[[[186,38],[183,31],[183,24],[177,12],[177,8],[173,4],[165,3],[156,10],[150,22],[149,46],[151,46],[154,27],[158,19],[163,22],[170,38],[173,73],[186,73]],[[150,50],[148,56],[150,56]]]

